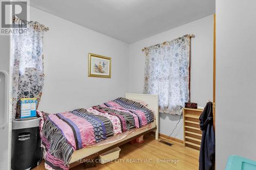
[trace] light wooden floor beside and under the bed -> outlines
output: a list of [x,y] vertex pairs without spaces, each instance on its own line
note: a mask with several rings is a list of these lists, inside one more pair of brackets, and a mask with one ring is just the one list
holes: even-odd
[[[97,163],[97,167],[88,169],[198,169],[199,151],[184,148],[183,144],[174,141],[170,147],[158,142],[150,135],[144,136],[144,140],[145,142],[141,144],[126,143],[122,145],[118,160],[105,164]],[[163,161],[169,162],[164,163]],[[34,170],[43,169],[45,169],[44,161],[34,168]],[[84,169],[82,164],[71,168],[71,170],[82,169]]]

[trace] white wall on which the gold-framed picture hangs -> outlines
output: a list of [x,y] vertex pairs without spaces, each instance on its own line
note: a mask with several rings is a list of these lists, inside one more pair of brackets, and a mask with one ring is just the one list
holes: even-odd
[[[39,110],[70,111],[124,96],[126,43],[32,7],[30,15],[50,28],[44,36],[45,85]],[[88,77],[88,53],[112,58],[111,79]]]

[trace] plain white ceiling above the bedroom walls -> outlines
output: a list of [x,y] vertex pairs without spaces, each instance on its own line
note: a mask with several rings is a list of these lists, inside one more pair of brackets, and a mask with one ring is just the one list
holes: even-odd
[[215,0],[30,0],[30,5],[125,43],[215,13]]

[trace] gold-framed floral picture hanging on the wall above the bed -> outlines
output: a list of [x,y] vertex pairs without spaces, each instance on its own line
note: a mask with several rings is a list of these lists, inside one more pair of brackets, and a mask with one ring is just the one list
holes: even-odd
[[88,76],[111,78],[111,58],[89,53]]

